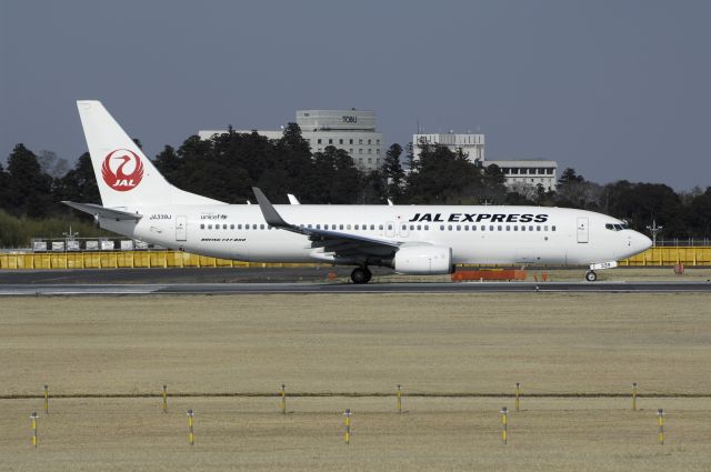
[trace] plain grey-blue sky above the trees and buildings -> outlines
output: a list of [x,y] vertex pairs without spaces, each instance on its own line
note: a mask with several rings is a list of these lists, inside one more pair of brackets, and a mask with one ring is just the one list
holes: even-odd
[[0,2],[0,160],[74,162],[76,100],[149,157],[201,129],[374,110],[388,143],[479,130],[487,159],[711,185],[709,1]]

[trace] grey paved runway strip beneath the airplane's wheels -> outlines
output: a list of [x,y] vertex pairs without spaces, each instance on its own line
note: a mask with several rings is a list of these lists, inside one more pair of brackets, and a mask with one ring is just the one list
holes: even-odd
[[433,282],[433,283],[164,283],[4,284],[12,295],[166,295],[276,293],[500,293],[500,292],[711,292],[709,282]]

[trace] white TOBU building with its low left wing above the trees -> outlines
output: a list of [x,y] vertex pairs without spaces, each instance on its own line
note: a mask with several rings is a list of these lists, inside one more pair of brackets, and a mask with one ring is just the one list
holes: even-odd
[[[311,145],[312,152],[322,152],[333,145],[343,149],[362,170],[379,169],[384,158],[384,139],[375,130],[375,112],[367,110],[298,110],[297,124],[301,135]],[[236,130],[239,133],[259,134],[269,139],[280,139],[282,131]],[[201,139],[210,139],[227,130],[199,131]]]

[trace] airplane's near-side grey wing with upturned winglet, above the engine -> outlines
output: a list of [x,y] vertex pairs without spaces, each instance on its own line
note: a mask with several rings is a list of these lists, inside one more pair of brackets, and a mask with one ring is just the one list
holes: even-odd
[[323,248],[323,252],[334,252],[339,257],[378,255],[387,257],[393,254],[402,242],[378,238],[361,237],[358,234],[341,233],[339,231],[318,230],[314,228],[302,228],[290,224],[281,218],[279,212],[271,204],[262,191],[252,188],[259,208],[264,215],[267,224],[309,237],[311,247]]

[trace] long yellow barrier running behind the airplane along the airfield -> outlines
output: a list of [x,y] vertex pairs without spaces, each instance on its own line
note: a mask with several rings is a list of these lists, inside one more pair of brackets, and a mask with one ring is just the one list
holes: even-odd
[[[621,267],[711,265],[711,247],[650,248],[619,261]],[[0,254],[0,269],[119,269],[119,268],[288,268],[316,263],[262,263],[208,258],[181,251],[42,252]]]

